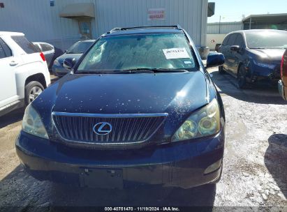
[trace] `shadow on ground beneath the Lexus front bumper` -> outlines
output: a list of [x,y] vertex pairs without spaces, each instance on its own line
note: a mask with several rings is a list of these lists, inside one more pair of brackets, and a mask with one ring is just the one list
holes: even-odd
[[22,211],[31,206],[213,206],[215,195],[216,185],[189,190],[157,186],[125,190],[75,188],[37,181],[20,166],[0,181],[0,209],[20,206]]

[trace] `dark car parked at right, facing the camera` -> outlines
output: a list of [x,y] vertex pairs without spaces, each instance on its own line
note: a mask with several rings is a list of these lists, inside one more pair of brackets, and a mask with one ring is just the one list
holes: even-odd
[[246,84],[277,86],[280,63],[287,48],[287,31],[251,29],[229,33],[219,49],[226,63],[219,67],[237,77],[241,89]]

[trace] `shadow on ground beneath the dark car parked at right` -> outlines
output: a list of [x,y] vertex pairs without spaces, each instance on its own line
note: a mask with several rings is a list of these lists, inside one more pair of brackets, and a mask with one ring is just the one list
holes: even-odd
[[210,74],[221,94],[249,103],[287,105],[287,101],[281,98],[276,87],[252,85],[247,89],[238,89],[237,79],[228,73],[219,74],[215,70]]

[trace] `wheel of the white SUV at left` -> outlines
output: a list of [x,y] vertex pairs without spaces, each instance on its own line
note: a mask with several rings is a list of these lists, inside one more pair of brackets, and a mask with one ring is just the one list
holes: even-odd
[[44,91],[40,82],[32,81],[25,86],[25,105],[29,105]]

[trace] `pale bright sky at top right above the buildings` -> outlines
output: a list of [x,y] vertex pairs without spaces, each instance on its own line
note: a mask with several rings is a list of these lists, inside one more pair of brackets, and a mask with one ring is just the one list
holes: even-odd
[[235,22],[242,15],[287,13],[287,0],[208,0],[215,2],[215,14],[207,22]]

